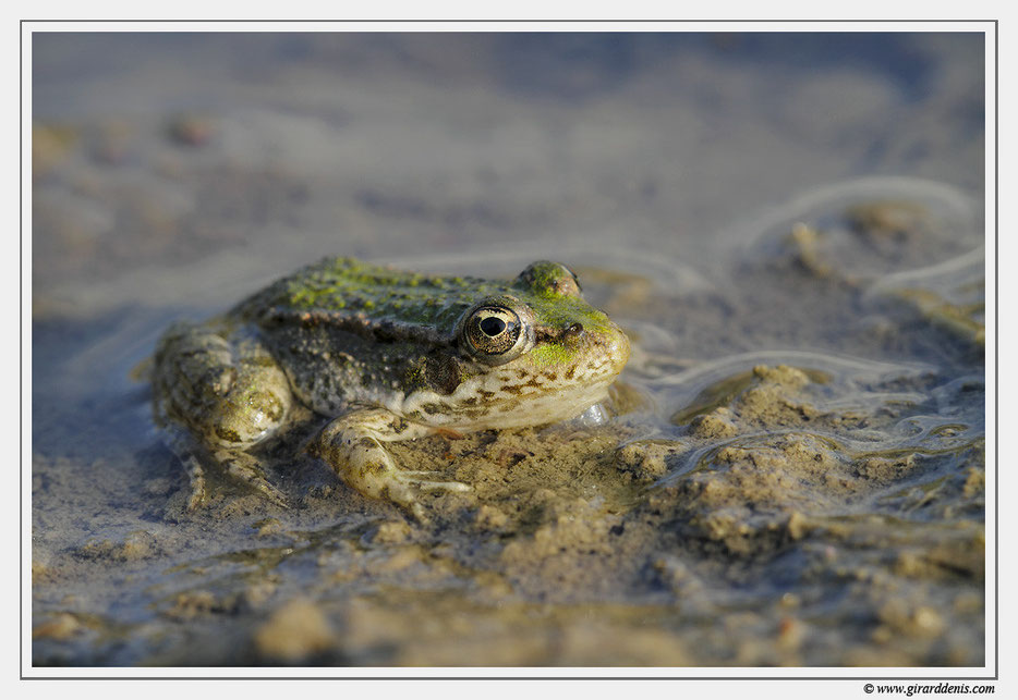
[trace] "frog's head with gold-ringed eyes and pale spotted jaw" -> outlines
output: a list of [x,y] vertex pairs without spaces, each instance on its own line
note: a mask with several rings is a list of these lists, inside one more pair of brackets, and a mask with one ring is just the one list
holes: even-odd
[[450,427],[571,418],[605,397],[629,359],[626,334],[583,300],[575,274],[557,262],[535,262],[505,293],[478,299],[453,334],[458,376],[432,420]]

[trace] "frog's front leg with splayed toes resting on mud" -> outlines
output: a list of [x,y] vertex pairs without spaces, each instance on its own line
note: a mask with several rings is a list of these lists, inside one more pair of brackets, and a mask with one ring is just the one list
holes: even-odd
[[383,408],[363,408],[340,416],[318,435],[316,451],[336,474],[365,495],[387,499],[421,515],[422,490],[468,491],[458,481],[428,479],[428,471],[401,469],[383,443],[433,434],[427,426],[410,422]]

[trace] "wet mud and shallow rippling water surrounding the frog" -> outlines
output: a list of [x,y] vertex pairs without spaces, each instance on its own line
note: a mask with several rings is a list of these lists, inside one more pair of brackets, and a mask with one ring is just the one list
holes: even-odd
[[[33,663],[982,665],[977,39],[37,35]],[[606,419],[187,512],[132,368],[326,254],[569,263]]]

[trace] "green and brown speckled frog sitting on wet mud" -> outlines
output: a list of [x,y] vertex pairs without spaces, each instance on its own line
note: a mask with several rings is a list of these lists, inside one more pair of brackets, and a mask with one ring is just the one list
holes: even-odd
[[565,265],[514,279],[436,275],[327,257],[156,344],[155,421],[205,502],[215,464],[287,506],[259,445],[295,423],[348,487],[423,517],[425,492],[459,481],[398,465],[389,443],[575,418],[606,398],[630,354],[626,333]]

